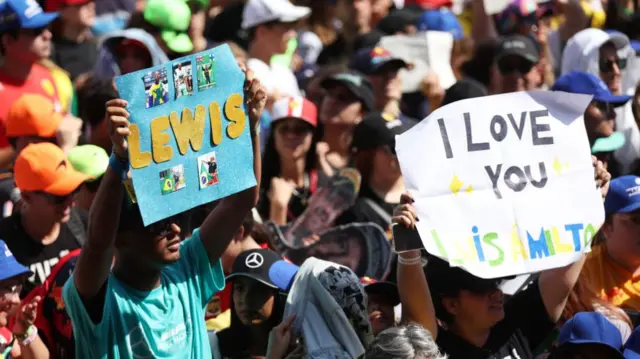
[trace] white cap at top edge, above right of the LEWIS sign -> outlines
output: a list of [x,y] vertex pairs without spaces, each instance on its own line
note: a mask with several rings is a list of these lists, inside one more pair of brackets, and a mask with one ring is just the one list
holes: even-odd
[[242,12],[242,28],[250,29],[271,21],[294,22],[305,18],[311,9],[295,6],[288,0],[249,0]]

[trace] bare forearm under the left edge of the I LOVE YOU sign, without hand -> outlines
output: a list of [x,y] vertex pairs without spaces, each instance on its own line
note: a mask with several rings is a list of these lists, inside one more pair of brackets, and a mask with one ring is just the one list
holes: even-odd
[[427,278],[422,270],[420,251],[398,254],[397,277],[402,303],[402,322],[416,322],[422,325],[435,340],[438,336],[436,313]]

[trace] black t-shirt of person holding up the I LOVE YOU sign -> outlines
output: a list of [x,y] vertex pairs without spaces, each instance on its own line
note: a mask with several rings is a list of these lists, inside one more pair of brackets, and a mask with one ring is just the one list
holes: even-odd
[[531,359],[555,324],[540,295],[538,282],[505,303],[505,317],[491,329],[482,348],[438,328],[437,343],[449,359]]

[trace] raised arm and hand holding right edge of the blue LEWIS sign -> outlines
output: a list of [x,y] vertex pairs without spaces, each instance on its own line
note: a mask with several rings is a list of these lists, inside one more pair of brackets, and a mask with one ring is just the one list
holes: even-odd
[[258,203],[260,197],[262,161],[258,129],[260,116],[267,101],[267,92],[260,84],[260,81],[254,77],[251,70],[246,70],[242,64],[239,65],[246,73],[244,84],[245,109],[249,115],[251,143],[253,144],[253,171],[256,177],[256,185],[222,199],[200,226],[200,240],[202,240],[209,255],[209,260],[212,262],[220,258],[238,228],[242,226],[244,217]]

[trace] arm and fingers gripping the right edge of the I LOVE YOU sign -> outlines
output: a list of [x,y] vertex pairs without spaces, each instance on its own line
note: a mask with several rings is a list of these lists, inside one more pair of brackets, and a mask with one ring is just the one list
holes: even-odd
[[[596,160],[595,157],[593,157],[593,166],[595,168],[596,183],[604,197],[609,189],[611,174],[607,172],[602,162]],[[573,286],[578,281],[585,258],[583,257],[566,267],[550,269],[540,274],[540,295],[552,321],[555,322],[560,319],[562,311],[567,304],[569,293],[571,293]]]

